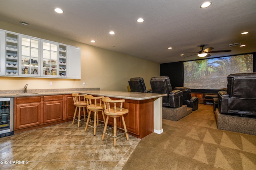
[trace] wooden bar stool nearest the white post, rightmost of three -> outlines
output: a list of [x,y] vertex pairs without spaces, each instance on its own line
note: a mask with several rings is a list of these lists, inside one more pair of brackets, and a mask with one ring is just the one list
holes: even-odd
[[[104,113],[105,113],[105,115],[107,115],[107,119],[106,119],[106,123],[105,123],[105,127],[104,127],[104,131],[103,131],[101,140],[102,141],[104,140],[105,134],[109,135],[109,136],[114,138],[114,144],[113,145],[114,145],[114,147],[116,147],[116,137],[119,137],[120,135],[125,134],[126,139],[129,140],[128,133],[127,133],[128,131],[126,129],[126,125],[125,125],[125,121],[124,121],[124,114],[128,113],[129,110],[122,108],[123,102],[125,102],[124,99],[111,100],[110,98],[103,98],[102,101],[104,102]],[[110,107],[110,103],[114,103],[114,107]],[[116,104],[118,104],[118,103],[120,103],[120,107],[116,107]],[[109,129],[107,129],[109,117],[114,118],[114,127],[109,128],[109,129],[114,128],[114,135],[113,136],[106,133],[106,130],[109,130]],[[117,125],[116,125],[116,118],[117,117],[122,117],[122,123],[123,123],[124,129],[122,129],[120,127],[117,127]],[[116,130],[117,129],[122,129],[124,131],[124,133],[116,135],[116,132],[117,132]]]

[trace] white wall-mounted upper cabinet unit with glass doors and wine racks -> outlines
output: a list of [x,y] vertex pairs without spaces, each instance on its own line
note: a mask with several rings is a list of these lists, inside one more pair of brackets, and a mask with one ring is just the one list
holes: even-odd
[[81,78],[81,49],[0,29],[0,76]]

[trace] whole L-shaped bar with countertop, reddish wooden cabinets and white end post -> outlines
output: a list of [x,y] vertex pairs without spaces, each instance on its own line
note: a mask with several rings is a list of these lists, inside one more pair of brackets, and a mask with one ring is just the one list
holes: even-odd
[[[14,97],[14,114],[16,114],[14,116],[16,132],[14,130],[14,133],[17,133],[72,120],[72,115],[74,114],[72,110],[72,93],[105,96],[113,100],[125,99],[124,108],[129,109],[129,113],[125,116],[125,121],[130,135],[141,139],[150,133],[162,133],[163,131],[162,97],[166,96],[166,94],[105,91],[98,89],[66,89],[66,91],[65,89],[60,91],[58,89],[51,89],[51,91],[30,90],[27,94],[12,91],[12,93],[0,94],[0,98]],[[35,105],[35,110],[26,110],[26,108],[33,108],[31,107],[32,103]],[[50,110],[51,107],[54,107],[54,109],[58,107],[59,109],[58,111],[47,112],[46,110]],[[34,115],[34,113],[38,113],[38,115]],[[35,119],[35,116],[37,119]],[[118,123],[120,123],[118,125],[121,125],[121,122]]]

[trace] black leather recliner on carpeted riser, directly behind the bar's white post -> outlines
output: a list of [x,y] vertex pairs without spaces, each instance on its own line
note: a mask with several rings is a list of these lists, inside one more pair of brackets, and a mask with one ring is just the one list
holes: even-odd
[[182,106],[183,92],[172,90],[169,77],[152,77],[150,80],[152,93],[167,94],[163,97],[163,106],[177,108]]

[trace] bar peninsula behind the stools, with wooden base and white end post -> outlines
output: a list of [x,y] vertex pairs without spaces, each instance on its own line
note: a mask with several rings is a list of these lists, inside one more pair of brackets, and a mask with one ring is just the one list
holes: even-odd
[[86,90],[81,94],[125,99],[124,108],[129,109],[125,117],[128,133],[142,139],[150,133],[162,133],[162,97],[166,94]]

